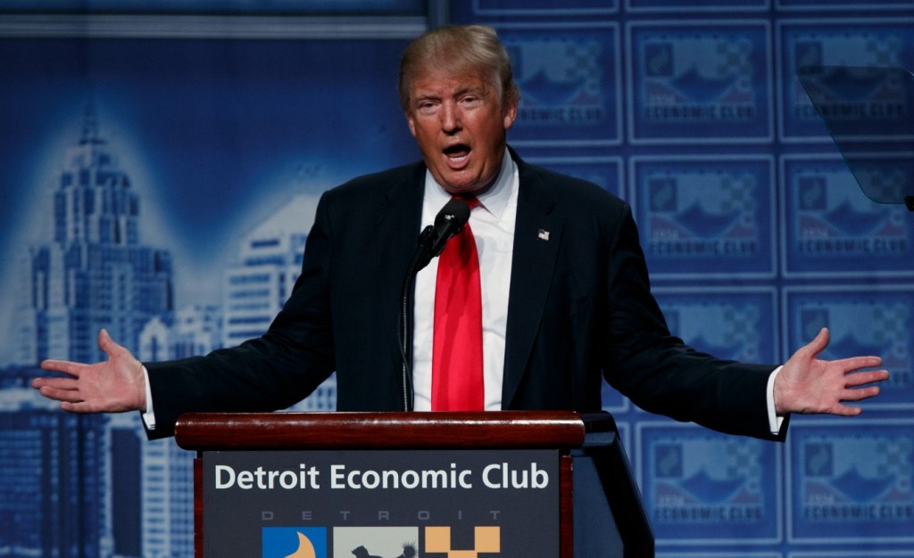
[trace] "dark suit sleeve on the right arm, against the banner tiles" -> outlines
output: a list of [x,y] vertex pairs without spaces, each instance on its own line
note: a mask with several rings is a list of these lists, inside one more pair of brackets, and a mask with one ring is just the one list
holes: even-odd
[[782,439],[783,434],[771,434],[766,405],[775,366],[720,360],[671,335],[651,294],[627,205],[611,237],[600,343],[610,384],[646,411],[728,434]]

